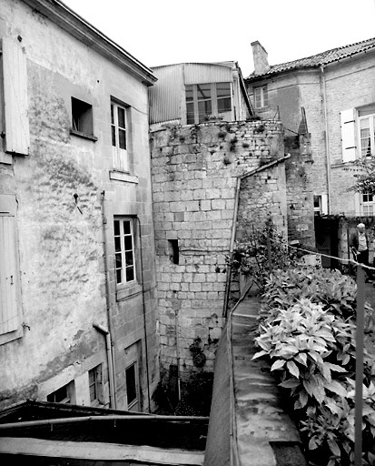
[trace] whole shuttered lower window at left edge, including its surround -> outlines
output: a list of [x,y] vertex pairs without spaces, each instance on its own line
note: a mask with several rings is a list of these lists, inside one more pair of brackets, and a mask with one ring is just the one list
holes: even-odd
[[0,195],[0,344],[22,337],[15,196]]

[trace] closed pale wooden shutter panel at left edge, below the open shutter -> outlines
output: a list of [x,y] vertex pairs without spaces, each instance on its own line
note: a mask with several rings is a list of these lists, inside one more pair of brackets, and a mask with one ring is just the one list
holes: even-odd
[[15,217],[0,214],[0,334],[19,327],[17,283]]

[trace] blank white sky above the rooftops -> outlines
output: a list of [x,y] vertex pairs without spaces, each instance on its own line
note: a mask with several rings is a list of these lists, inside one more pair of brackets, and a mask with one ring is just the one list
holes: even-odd
[[375,37],[375,0],[62,0],[146,66],[237,61],[252,42],[270,65]]

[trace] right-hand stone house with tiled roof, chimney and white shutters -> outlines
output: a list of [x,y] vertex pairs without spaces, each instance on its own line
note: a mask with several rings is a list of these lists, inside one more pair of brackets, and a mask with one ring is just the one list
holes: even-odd
[[287,135],[311,133],[315,210],[321,215],[373,215],[372,196],[348,192],[347,170],[375,155],[375,38],[270,66],[252,43],[254,72],[245,79],[257,115],[279,117]]

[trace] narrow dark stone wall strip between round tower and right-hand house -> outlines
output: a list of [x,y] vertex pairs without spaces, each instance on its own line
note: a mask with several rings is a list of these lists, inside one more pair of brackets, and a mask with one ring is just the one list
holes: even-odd
[[312,157],[310,134],[286,137],[285,151],[288,202],[288,238],[298,239],[305,247],[315,248]]

